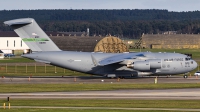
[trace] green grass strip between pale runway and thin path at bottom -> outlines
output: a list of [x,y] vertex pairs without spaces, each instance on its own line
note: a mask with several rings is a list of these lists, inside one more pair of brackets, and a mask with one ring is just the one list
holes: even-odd
[[[0,100],[0,104],[5,103]],[[182,108],[200,109],[200,100],[135,100],[135,99],[11,99],[11,106],[117,107],[117,108]],[[6,102],[8,105],[8,102]]]

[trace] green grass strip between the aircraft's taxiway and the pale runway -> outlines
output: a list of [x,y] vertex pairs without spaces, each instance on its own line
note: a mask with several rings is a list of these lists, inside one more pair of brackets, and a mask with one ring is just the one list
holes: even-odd
[[100,91],[125,89],[177,89],[200,88],[200,83],[191,84],[119,84],[119,83],[76,83],[74,84],[0,84],[0,93]]

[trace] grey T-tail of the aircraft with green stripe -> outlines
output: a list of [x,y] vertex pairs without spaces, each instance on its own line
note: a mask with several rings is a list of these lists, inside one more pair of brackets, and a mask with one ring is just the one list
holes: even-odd
[[32,18],[5,21],[4,24],[11,26],[33,52],[60,51]]

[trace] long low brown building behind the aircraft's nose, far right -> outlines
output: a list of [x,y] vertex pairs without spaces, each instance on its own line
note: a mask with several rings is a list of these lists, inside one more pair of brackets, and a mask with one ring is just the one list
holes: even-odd
[[145,34],[142,36],[142,46],[151,48],[160,45],[162,48],[185,48],[199,46],[199,34]]

